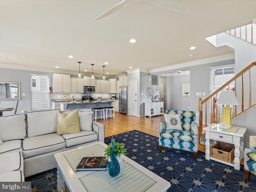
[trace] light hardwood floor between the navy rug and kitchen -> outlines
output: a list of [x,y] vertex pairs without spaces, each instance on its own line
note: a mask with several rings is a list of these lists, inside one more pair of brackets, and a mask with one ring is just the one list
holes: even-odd
[[[158,137],[159,123],[164,120],[163,115],[146,117],[134,117],[115,112],[115,118],[108,120],[97,119],[97,122],[104,124],[105,137],[137,130]],[[205,146],[198,144],[198,150],[204,152]]]

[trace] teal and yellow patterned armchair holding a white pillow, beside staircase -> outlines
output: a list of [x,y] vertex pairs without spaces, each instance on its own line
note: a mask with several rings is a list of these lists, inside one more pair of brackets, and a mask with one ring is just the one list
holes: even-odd
[[160,122],[159,148],[162,147],[194,152],[198,151],[198,125],[195,122],[196,112],[183,110],[167,110],[166,114],[180,114],[182,130],[166,129],[166,120]]

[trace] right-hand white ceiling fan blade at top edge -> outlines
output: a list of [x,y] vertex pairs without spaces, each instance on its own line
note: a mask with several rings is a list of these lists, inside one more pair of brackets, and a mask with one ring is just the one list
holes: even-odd
[[180,13],[184,13],[186,10],[185,7],[181,6],[180,4],[174,3],[170,0],[163,0],[163,1],[148,0],[148,3],[155,7],[160,7],[163,9],[168,9],[168,10],[176,11],[176,12],[180,12]]

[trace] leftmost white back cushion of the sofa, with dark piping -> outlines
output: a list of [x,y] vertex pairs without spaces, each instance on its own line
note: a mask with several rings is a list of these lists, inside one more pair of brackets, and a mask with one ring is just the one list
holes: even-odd
[[0,116],[0,138],[4,141],[26,137],[26,115]]

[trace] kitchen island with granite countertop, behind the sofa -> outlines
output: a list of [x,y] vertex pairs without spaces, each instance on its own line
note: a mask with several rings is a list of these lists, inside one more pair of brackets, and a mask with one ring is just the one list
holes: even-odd
[[112,100],[106,101],[77,101],[77,102],[60,102],[60,110],[73,110],[82,108],[98,108],[98,107],[111,107]]

